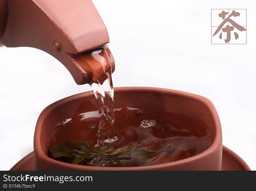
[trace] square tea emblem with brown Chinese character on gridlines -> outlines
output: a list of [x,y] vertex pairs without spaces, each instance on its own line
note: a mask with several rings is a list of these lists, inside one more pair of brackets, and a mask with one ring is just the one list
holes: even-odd
[[211,9],[211,44],[246,44],[246,9]]

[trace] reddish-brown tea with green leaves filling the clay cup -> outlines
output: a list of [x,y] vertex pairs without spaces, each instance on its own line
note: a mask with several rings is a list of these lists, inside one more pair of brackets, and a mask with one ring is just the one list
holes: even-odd
[[205,122],[177,113],[116,108],[109,136],[99,144],[99,113],[80,113],[56,126],[48,156],[107,167],[155,165],[195,156],[212,142]]

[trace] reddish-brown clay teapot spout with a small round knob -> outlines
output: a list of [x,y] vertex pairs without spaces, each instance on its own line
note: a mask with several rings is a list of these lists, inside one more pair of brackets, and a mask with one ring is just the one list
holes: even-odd
[[[70,55],[108,42],[107,29],[91,0],[0,0],[0,44],[51,54],[79,85],[88,83],[87,72]],[[114,71],[114,60],[111,63]]]

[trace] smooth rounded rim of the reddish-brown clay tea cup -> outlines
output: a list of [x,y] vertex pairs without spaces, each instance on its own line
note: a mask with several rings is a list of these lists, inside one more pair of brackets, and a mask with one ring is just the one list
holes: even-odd
[[[114,88],[115,92],[135,92],[135,91],[144,91],[144,92],[161,92],[161,94],[173,94],[177,95],[180,97],[186,97],[194,100],[200,101],[202,104],[204,104],[211,115],[213,116],[214,120],[214,126],[215,126],[215,139],[213,141],[213,144],[203,151],[202,153],[185,158],[182,160],[177,160],[174,162],[169,162],[169,163],[163,163],[163,164],[157,164],[157,165],[149,165],[149,166],[138,166],[138,167],[95,167],[95,166],[85,166],[85,165],[76,165],[76,164],[70,164],[70,163],[65,163],[61,161],[54,160],[52,158],[49,158],[48,156],[45,155],[44,150],[42,149],[42,146],[40,144],[40,137],[42,133],[42,124],[47,117],[47,113],[51,112],[55,108],[58,108],[59,106],[70,102],[74,99],[79,99],[79,98],[84,98],[84,97],[89,97],[93,95],[93,91],[88,91],[88,92],[83,92],[79,94],[74,94],[72,96],[63,98],[61,100],[58,100],[51,105],[47,106],[39,115],[36,127],[35,127],[35,134],[34,134],[34,153],[35,153],[35,158],[38,158],[40,160],[45,161],[45,163],[51,163],[54,165],[61,166],[65,169],[79,169],[79,170],[96,170],[96,171],[101,171],[101,170],[154,170],[154,169],[160,169],[160,168],[165,168],[165,167],[171,167],[171,166],[178,166],[184,163],[193,163],[195,161],[200,160],[201,158],[206,157],[210,153],[214,153],[216,150],[220,149],[222,147],[222,131],[221,131],[221,123],[217,114],[217,111],[213,105],[213,103],[200,95],[197,94],[192,94],[188,92],[183,92],[179,90],[171,90],[171,89],[166,89],[166,88],[153,88],[153,87],[117,87]],[[36,163],[36,161],[35,161]]]

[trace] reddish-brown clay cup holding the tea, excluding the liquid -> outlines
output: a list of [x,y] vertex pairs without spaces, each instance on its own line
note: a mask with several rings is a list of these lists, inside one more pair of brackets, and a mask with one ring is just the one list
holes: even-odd
[[162,110],[199,117],[206,122],[213,144],[203,153],[190,158],[142,167],[91,167],[48,158],[45,155],[47,140],[54,126],[76,113],[97,110],[93,92],[85,92],[57,101],[40,114],[34,136],[35,168],[37,170],[221,170],[221,124],[213,104],[207,98],[162,88],[115,88],[115,108],[120,107]]

